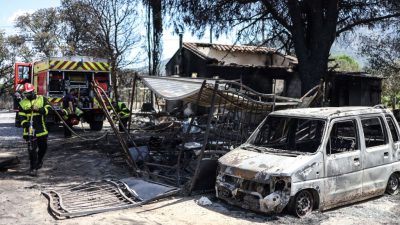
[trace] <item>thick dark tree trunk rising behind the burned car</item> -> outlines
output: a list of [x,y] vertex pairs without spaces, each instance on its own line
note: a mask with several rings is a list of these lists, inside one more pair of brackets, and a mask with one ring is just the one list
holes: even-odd
[[328,57],[336,36],[338,0],[288,0],[294,49],[299,60],[301,92],[318,85],[328,68]]

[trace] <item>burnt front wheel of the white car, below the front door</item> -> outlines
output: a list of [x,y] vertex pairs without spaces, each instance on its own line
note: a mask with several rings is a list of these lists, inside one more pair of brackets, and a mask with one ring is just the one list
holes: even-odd
[[314,206],[314,197],[308,190],[298,192],[294,198],[290,200],[289,211],[297,217],[305,217],[311,213]]

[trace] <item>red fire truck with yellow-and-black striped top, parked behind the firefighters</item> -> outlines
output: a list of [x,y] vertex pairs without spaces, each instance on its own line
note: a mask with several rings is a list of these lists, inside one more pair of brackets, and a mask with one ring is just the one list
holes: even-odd
[[[104,113],[94,96],[92,81],[97,81],[111,98],[110,66],[105,59],[92,57],[54,57],[43,61],[15,64],[14,88],[18,92],[25,83],[32,83],[36,93],[46,96],[53,108],[62,110],[63,97],[74,89],[75,103],[83,113],[82,122],[90,124],[92,130],[101,130]],[[60,122],[53,112],[46,122]]]

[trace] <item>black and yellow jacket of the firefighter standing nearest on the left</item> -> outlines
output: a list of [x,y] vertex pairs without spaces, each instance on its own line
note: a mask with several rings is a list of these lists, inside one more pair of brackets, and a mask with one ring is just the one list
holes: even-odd
[[[37,110],[34,111],[34,108]],[[19,102],[18,115],[21,117],[21,126],[24,128],[24,138],[28,137],[31,118],[36,137],[48,134],[45,116],[49,113],[49,108],[51,108],[49,101],[41,95],[37,95],[36,98],[32,100],[25,98]]]

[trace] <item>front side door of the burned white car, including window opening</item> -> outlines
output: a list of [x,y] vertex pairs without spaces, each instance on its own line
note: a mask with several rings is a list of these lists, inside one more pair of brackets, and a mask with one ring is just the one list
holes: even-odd
[[362,195],[362,158],[356,117],[330,123],[325,157],[324,202],[335,206]]

